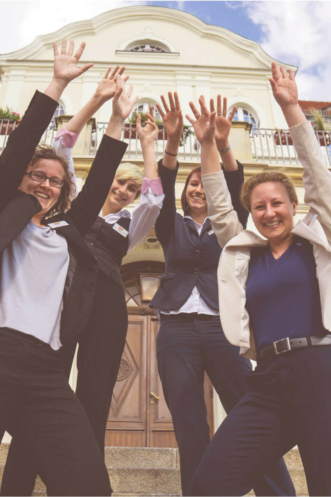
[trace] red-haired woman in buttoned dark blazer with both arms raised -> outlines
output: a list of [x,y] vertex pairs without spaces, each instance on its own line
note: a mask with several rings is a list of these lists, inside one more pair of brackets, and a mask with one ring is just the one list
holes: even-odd
[[[166,270],[151,307],[160,316],[156,339],[159,374],[171,412],[180,453],[183,496],[190,496],[192,478],[209,443],[203,378],[207,372],[226,412],[245,394],[244,378],[251,371],[248,359],[227,342],[220,325],[217,300],[217,265],[221,248],[211,228],[200,168],[189,174],[182,194],[184,217],[176,213],[175,181],[177,153],[183,118],[177,94],[169,92],[170,108],[161,96],[160,112],[168,141],[159,174],[165,198],[155,231],[165,257]],[[213,110],[213,109],[212,109]],[[247,211],[239,201],[243,167],[228,142],[235,109],[226,117],[217,99],[216,144],[231,200],[243,226]],[[255,486],[256,495],[295,495],[284,462]]]

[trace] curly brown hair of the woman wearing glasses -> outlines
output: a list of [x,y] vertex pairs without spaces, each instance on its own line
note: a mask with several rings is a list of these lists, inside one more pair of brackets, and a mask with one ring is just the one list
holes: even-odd
[[68,210],[68,208],[70,207],[70,202],[75,196],[76,186],[73,181],[72,172],[69,170],[66,158],[59,156],[55,152],[53,147],[51,147],[50,145],[38,145],[35,153],[32,156],[28,169],[31,170],[31,168],[35,166],[40,159],[54,159],[55,161],[59,161],[60,164],[63,166],[63,170],[65,173],[63,178],[64,184],[61,188],[61,193],[58,201],[45,215],[45,217],[51,217],[55,214],[66,212]]

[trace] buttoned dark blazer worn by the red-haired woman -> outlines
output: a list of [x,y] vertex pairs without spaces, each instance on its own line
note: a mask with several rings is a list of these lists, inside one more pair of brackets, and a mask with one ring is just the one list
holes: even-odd
[[[177,168],[178,170],[178,168]],[[163,248],[165,272],[150,307],[167,311],[180,308],[197,286],[200,295],[208,306],[218,311],[217,266],[221,254],[216,235],[210,221],[203,224],[201,234],[191,219],[184,219],[176,212],[175,182],[177,170],[167,169],[159,162],[165,198],[163,207],[155,223],[155,233]],[[232,205],[238,213],[239,221],[246,227],[248,212],[239,200],[244,181],[243,166],[238,170],[224,171]]]

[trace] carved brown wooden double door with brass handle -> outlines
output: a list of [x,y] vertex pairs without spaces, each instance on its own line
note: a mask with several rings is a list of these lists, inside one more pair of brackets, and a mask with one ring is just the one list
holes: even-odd
[[[128,335],[109,412],[105,445],[177,447],[171,415],[158,375],[155,316],[129,314]],[[212,386],[205,375],[205,402],[213,434]]]

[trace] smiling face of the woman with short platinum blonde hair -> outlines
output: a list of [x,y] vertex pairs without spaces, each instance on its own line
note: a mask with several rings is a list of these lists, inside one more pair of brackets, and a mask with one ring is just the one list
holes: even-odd
[[133,179],[115,177],[105,202],[107,213],[119,212],[131,204],[136,198],[139,188],[140,185]]

